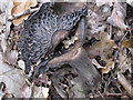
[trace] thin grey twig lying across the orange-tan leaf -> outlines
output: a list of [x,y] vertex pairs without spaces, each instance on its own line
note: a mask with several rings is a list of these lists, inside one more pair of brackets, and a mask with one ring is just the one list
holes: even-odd
[[28,10],[25,10],[25,11],[22,12],[22,13],[19,13],[19,14],[9,17],[8,21],[12,21],[12,20],[14,20],[14,19],[18,19],[18,18],[20,18],[20,17],[22,17],[22,16],[25,16],[25,14],[30,14],[30,13],[32,13],[32,12],[34,12],[34,11],[38,11],[38,10],[39,10],[39,8],[28,9]]

